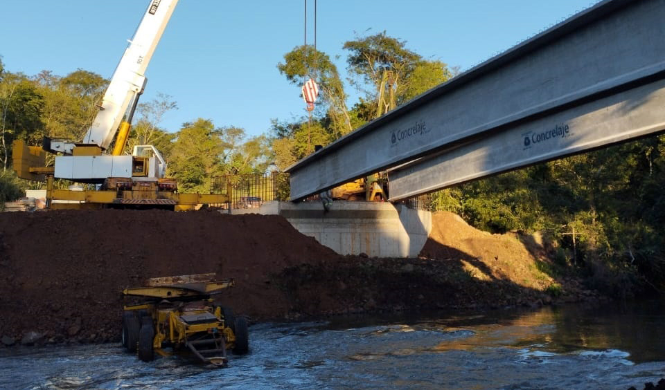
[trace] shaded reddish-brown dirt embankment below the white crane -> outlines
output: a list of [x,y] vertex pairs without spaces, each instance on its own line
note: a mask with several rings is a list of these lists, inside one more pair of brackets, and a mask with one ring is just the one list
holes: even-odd
[[280,216],[103,210],[0,214],[0,335],[114,339],[121,291],[150,277],[216,272],[236,312],[289,310],[270,275],[339,255]]

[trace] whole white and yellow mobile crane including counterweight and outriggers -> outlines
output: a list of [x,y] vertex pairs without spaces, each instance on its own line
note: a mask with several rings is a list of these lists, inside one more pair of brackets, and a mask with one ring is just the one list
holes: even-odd
[[[46,178],[46,207],[188,210],[199,204],[228,201],[227,195],[179,194],[176,180],[164,177],[166,161],[152,145],[137,145],[132,155],[123,155],[132,117],[145,89],[145,69],[177,3],[178,0],[150,0],[98,104],[99,112],[81,142],[44,138],[42,148],[28,147],[23,141],[13,145],[14,169],[18,176],[28,180]],[[113,143],[113,149],[109,150]],[[47,151],[57,154],[52,167],[45,166]],[[96,188],[87,191],[55,189],[54,178],[91,183]]]

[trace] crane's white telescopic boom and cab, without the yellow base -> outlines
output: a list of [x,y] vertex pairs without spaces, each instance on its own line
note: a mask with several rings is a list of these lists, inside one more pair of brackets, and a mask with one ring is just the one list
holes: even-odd
[[[103,183],[112,177],[154,180],[164,176],[166,163],[152,145],[134,147],[132,156],[121,154],[136,104],[145,87],[145,69],[177,3],[178,0],[150,1],[82,142],[45,138],[45,150],[64,154],[55,158],[55,178]],[[107,154],[114,139],[114,149]]]

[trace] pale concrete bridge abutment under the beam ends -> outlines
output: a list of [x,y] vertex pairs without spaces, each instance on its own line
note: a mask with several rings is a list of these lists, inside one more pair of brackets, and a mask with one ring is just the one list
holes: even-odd
[[402,205],[335,201],[329,211],[319,202],[266,202],[233,214],[278,214],[296,230],[339,254],[416,257],[432,230],[432,214]]

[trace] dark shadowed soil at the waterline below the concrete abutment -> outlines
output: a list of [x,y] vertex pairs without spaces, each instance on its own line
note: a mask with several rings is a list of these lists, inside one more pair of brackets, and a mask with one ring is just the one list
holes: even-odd
[[[418,259],[347,256],[339,261],[285,268],[274,275],[292,315],[319,317],[350,313],[448,308],[540,306],[551,296],[496,277],[471,254],[429,240]],[[485,277],[465,268],[470,264]]]

